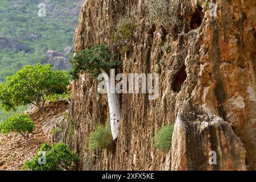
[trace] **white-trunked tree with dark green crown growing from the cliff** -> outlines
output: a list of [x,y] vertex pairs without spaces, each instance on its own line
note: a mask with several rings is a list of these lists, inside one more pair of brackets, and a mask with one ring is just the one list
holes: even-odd
[[119,123],[121,121],[121,105],[116,92],[110,92],[110,69],[121,67],[122,63],[119,60],[113,60],[114,54],[109,51],[106,43],[100,46],[93,46],[90,49],[84,49],[77,52],[76,56],[71,60],[73,65],[71,76],[77,79],[80,72],[89,72],[93,78],[96,78],[100,73],[105,80],[105,86],[108,93],[110,123],[113,140],[118,137]]

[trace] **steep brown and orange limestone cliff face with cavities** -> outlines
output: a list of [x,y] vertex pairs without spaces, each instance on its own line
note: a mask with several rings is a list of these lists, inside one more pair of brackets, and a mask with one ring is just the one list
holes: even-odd
[[[68,136],[67,123],[64,141],[81,156],[80,169],[256,170],[255,1],[213,1],[216,17],[209,16],[203,0],[177,1],[180,31],[150,25],[145,2],[85,1],[82,6],[75,51],[106,41],[125,74],[154,73],[161,64],[157,100],[120,95],[122,121],[114,151],[88,151],[86,138],[106,122],[108,102],[86,73],[73,83],[69,118],[75,130]],[[112,41],[115,22],[134,6],[133,49],[122,54]],[[175,124],[172,148],[159,154],[151,138],[167,123]],[[216,151],[217,164],[209,164],[210,151]]]

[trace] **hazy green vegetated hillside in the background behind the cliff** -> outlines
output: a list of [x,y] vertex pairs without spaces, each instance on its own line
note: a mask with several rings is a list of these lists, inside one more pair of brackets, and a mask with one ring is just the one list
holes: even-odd
[[[2,0],[0,3],[0,82],[24,65],[47,63],[46,52],[73,47],[82,0]],[[39,17],[39,3],[46,16]],[[72,57],[72,52],[67,55]],[[19,108],[23,111],[26,107]],[[10,113],[0,109],[0,121]]]

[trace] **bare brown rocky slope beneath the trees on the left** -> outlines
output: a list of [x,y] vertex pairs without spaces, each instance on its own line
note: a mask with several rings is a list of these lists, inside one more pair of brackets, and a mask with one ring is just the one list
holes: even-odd
[[40,146],[45,143],[55,143],[52,140],[56,123],[63,122],[63,113],[68,109],[67,101],[49,102],[46,113],[42,114],[35,107],[26,111],[35,123],[35,130],[29,135],[30,146],[17,133],[0,134],[0,171],[18,171],[28,159],[34,158]]

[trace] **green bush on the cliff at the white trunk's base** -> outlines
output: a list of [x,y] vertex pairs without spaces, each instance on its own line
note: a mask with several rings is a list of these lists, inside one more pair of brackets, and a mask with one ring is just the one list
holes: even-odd
[[110,124],[108,126],[99,125],[95,131],[90,133],[88,142],[90,151],[109,148],[113,142]]

